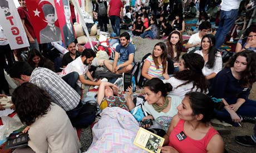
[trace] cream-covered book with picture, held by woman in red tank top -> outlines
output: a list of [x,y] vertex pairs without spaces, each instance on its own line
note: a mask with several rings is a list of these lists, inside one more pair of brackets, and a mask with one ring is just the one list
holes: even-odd
[[160,153],[161,149],[158,149],[157,147],[163,146],[163,144],[163,137],[153,134],[142,127],[140,127],[134,140],[134,145],[149,151],[150,153]]

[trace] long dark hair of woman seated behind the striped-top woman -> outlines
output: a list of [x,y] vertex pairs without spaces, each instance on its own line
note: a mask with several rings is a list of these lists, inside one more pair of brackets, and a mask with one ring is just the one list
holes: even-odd
[[[173,44],[171,44],[171,42],[170,42],[172,34],[178,34],[179,38],[180,38],[179,42],[176,43],[176,45],[175,45],[176,53],[177,53],[176,59],[174,58]],[[182,51],[182,35],[178,30],[174,30],[173,32],[171,32],[169,34],[168,42],[166,43],[166,45],[167,45],[167,49],[168,49],[168,57],[171,58],[171,59],[175,59],[175,60],[179,61],[180,54],[181,54],[181,51]]]

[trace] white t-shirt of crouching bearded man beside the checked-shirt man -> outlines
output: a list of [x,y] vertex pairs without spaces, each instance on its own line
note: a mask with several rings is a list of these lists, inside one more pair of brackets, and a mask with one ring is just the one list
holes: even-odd
[[[62,70],[61,75],[65,76],[68,73],[71,72],[77,72],[79,75],[86,75],[86,72],[88,70],[88,65],[83,64],[81,56],[76,58],[75,60],[73,60],[71,63],[67,64],[67,67],[65,69]],[[77,80],[77,85],[81,86],[82,83],[81,81],[78,79]]]

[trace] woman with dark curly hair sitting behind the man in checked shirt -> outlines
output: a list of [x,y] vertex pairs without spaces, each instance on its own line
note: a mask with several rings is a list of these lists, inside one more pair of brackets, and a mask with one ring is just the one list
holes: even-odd
[[43,55],[36,49],[32,49],[28,53],[27,62],[33,69],[37,67],[47,68],[55,72],[54,63],[50,59],[43,57]]

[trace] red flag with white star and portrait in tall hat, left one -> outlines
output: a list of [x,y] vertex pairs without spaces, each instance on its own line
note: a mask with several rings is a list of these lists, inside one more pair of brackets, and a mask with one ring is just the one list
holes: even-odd
[[57,10],[53,0],[26,0],[29,16],[38,43],[51,43],[62,40]]

